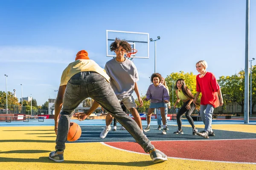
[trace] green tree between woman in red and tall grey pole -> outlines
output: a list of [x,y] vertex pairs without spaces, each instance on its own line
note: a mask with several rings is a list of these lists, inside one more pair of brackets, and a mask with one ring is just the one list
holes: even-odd
[[221,87],[224,102],[237,102],[241,106],[241,113],[244,113],[244,71],[232,76],[221,76],[218,84]]

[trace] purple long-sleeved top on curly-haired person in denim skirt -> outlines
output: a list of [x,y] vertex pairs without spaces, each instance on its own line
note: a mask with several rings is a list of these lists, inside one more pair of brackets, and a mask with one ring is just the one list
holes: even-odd
[[146,95],[146,98],[151,100],[152,103],[160,103],[163,102],[163,100],[168,100],[169,102],[170,100],[168,91],[162,83],[159,83],[157,87],[154,86],[154,84],[149,85]]

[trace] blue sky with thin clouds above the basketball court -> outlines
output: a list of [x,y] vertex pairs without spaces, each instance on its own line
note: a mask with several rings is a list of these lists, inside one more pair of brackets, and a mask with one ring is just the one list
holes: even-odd
[[[0,6],[0,91],[34,97],[38,105],[55,98],[62,71],[76,53],[87,50],[102,68],[106,30],[149,33],[157,41],[157,72],[232,75],[244,69],[246,0],[8,0]],[[250,59],[256,57],[256,0],[250,1]],[[149,59],[134,59],[143,95],[154,73],[154,42]],[[256,63],[254,63],[255,65]],[[136,96],[136,94],[134,93]]]

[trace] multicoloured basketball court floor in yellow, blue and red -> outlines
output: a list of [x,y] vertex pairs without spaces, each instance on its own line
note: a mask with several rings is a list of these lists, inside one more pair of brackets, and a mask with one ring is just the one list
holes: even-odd
[[[168,121],[166,135],[151,121],[145,132],[154,146],[166,153],[168,161],[154,164],[126,130],[110,131],[105,139],[99,134],[105,120],[72,120],[81,126],[76,142],[67,142],[64,162],[48,158],[55,148],[54,121],[0,122],[0,170],[255,170],[256,120],[244,125],[243,120],[213,120],[216,136],[204,139],[192,135],[189,123],[183,120],[183,135],[172,134],[177,122]],[[143,121],[143,127],[146,121]],[[195,122],[198,130],[204,127]],[[120,127],[120,125],[118,125]]]

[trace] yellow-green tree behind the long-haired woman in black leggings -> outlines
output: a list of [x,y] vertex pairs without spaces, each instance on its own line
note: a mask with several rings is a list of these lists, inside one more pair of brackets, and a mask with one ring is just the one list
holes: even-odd
[[[189,88],[192,94],[193,95],[196,94],[196,75],[195,74],[193,74],[192,72],[184,73],[184,71],[180,71],[179,73],[171,73],[165,79],[170,92],[171,106],[174,105],[177,100],[177,96],[175,93],[175,86],[176,86],[175,83],[177,79],[184,79],[186,86]],[[173,102],[172,102],[172,95],[173,95]],[[200,99],[201,95],[198,98]],[[182,105],[182,102],[180,102],[177,105],[177,107],[181,107],[181,105]]]

